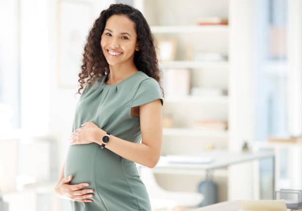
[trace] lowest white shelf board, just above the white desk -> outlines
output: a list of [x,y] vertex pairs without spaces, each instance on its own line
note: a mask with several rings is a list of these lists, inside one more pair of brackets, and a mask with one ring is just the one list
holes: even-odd
[[221,130],[201,130],[195,128],[163,128],[164,136],[203,136],[227,138],[228,132]]

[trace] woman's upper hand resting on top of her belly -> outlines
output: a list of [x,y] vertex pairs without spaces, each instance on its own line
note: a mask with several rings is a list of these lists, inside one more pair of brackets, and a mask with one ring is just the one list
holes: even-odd
[[97,129],[102,130],[93,122],[84,122],[82,127],[76,129],[69,137],[70,145],[90,144],[96,141]]

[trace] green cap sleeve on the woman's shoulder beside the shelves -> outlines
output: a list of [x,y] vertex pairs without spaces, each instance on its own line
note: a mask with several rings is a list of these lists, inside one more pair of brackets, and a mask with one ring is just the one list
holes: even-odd
[[131,107],[144,105],[156,99],[160,99],[161,105],[163,105],[163,99],[158,82],[153,78],[149,78],[142,81],[140,84],[133,97]]

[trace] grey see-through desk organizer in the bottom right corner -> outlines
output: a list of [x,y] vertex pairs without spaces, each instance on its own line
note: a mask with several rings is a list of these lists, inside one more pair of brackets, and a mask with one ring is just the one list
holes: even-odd
[[288,209],[302,209],[302,190],[281,189],[275,191],[275,199],[284,199]]

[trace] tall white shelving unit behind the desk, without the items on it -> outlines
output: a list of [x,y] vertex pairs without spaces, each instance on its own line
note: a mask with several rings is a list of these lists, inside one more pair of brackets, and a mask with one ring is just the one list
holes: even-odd
[[[134,0],[134,6],[144,14],[155,39],[172,38],[177,40],[175,60],[159,60],[159,68],[186,68],[190,72],[190,89],[192,87],[217,88],[228,90],[228,60],[194,60],[186,53],[186,45],[190,45],[193,54],[218,53],[228,56],[227,25],[200,26],[196,24],[202,16],[227,17],[228,0],[192,0],[185,3],[181,0]],[[187,9],[189,5],[190,9]],[[165,12],[164,12],[165,11]],[[176,17],[177,16],[177,17]],[[201,80],[200,80],[201,79]],[[163,87],[165,90],[165,87]],[[190,91],[191,93],[191,91]],[[217,149],[227,149],[229,132],[227,130],[201,130],[192,127],[194,121],[213,120],[228,122],[227,95],[165,95],[164,115],[172,115],[172,128],[163,128],[162,155],[169,153],[190,153],[203,151],[208,145]],[[187,115],[186,115],[187,113]],[[187,191],[197,191],[198,182],[203,180],[200,171],[154,172],[160,185],[175,189],[175,179],[195,176],[195,183],[186,180]],[[215,173],[216,174],[216,173]],[[220,186],[218,200],[227,200],[227,169],[216,174]],[[191,189],[189,189],[191,187]]]

